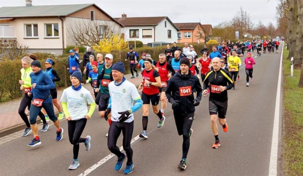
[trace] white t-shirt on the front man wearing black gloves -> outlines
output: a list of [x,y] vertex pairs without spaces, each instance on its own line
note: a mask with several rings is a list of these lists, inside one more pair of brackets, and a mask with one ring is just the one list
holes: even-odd
[[[112,107],[112,121],[118,122],[121,114],[118,112],[123,112],[130,109],[134,105],[134,100],[140,98],[136,86],[125,80],[121,85],[116,86],[114,81],[109,84],[109,91],[111,95],[111,107]],[[126,123],[130,123],[134,120],[134,114],[129,115],[130,118],[127,119]]]

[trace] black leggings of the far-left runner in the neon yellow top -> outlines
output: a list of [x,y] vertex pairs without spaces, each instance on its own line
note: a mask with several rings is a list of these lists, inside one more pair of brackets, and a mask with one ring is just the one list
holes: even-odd
[[[27,119],[27,115],[25,114],[25,109],[26,109],[26,107],[30,108],[32,98],[33,98],[32,96],[28,96],[27,94],[24,94],[23,98],[20,102],[19,109],[18,109],[18,113],[21,116],[21,119],[24,121],[27,128],[30,127],[30,124]],[[46,124],[44,114],[40,111],[38,113],[38,115],[39,115],[40,119],[43,121],[43,124]]]

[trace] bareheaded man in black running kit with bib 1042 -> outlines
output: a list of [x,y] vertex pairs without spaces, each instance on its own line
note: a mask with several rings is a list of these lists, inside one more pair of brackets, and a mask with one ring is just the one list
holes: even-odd
[[218,57],[213,59],[212,65],[214,70],[209,71],[206,75],[203,94],[206,96],[207,88],[210,85],[209,111],[211,115],[212,131],[215,136],[215,143],[212,148],[216,149],[220,146],[217,118],[219,118],[219,124],[222,125],[223,131],[227,132],[228,125],[225,119],[228,104],[227,90],[231,89],[234,85],[228,72],[220,68],[220,59]]

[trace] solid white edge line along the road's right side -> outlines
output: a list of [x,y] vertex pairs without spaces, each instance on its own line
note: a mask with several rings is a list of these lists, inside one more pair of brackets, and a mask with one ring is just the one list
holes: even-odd
[[279,69],[275,116],[274,116],[274,128],[273,128],[273,137],[272,137],[272,146],[270,153],[269,173],[268,173],[269,176],[277,175],[283,46],[284,43],[282,45],[282,52],[280,58],[280,69]]

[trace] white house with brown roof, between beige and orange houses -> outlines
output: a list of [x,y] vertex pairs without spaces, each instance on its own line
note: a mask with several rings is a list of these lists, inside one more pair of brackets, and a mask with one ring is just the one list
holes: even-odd
[[179,29],[168,17],[127,17],[122,14],[122,18],[115,19],[124,25],[125,41],[140,40],[143,44],[177,41]]

